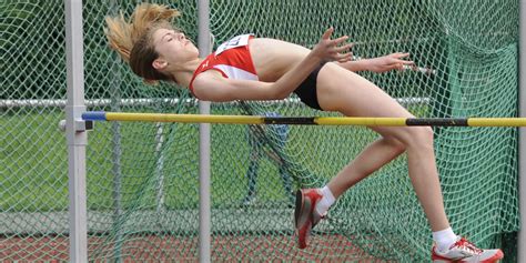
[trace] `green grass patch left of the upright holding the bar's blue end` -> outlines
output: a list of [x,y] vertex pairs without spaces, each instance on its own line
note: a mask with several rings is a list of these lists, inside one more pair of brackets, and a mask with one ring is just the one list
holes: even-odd
[[[4,115],[0,165],[2,211],[65,210],[68,163],[61,113]],[[50,120],[57,120],[52,123]]]

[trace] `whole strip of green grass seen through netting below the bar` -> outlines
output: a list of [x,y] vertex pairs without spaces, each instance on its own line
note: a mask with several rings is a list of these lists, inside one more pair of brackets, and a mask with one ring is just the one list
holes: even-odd
[[[219,109],[214,114],[235,113]],[[316,113],[304,110],[295,114]],[[57,128],[62,119],[64,115],[58,110],[4,114],[0,119],[4,134],[1,144],[6,146],[0,153],[2,211],[68,210],[67,142],[64,133]],[[162,148],[156,150],[155,136],[160,127],[154,123],[95,123],[94,130],[89,132],[87,146],[88,205],[91,210],[113,210],[117,205],[155,209],[161,178],[164,208],[198,208],[198,124],[164,123],[162,129]],[[290,129],[285,154],[302,170],[297,172],[302,183],[320,186],[375,138],[376,134],[364,128],[296,125]],[[115,152],[118,146],[120,154]],[[213,125],[214,206],[241,203],[247,191],[249,156],[246,127]],[[120,185],[118,195],[117,185]],[[286,201],[277,168],[267,159],[260,165],[257,195],[261,203]]]

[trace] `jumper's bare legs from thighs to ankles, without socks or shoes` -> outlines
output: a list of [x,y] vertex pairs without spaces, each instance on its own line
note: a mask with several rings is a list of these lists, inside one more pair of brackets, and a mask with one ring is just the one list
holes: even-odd
[[[340,111],[350,117],[413,117],[380,88],[333,63],[327,63],[320,71],[317,97],[324,110]],[[432,230],[439,231],[449,227],[436,170],[433,131],[424,127],[375,127],[372,129],[384,139],[362,152],[358,156],[360,162],[353,162],[344,169],[328,184],[331,191],[334,191],[335,195],[341,194],[345,188],[376,171],[405,149],[409,178]],[[345,180],[347,175],[348,181]]]

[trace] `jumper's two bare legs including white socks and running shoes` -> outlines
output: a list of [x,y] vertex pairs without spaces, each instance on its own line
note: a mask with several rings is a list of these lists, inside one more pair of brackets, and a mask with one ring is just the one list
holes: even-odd
[[[395,100],[373,83],[335,64],[327,64],[317,78],[317,99],[324,110],[340,111],[345,115],[360,117],[413,117]],[[306,190],[299,194],[295,210],[295,224],[300,247],[306,246],[311,227],[320,221],[316,204],[334,201],[331,188],[341,191],[360,181],[372,171],[376,171],[404,149],[407,152],[409,178],[433,230],[432,259],[438,262],[496,262],[504,254],[500,250],[481,250],[459,239],[449,227],[444,211],[442,190],[436,170],[433,149],[433,131],[423,127],[373,127],[383,139],[365,149],[358,160],[347,168],[322,190]],[[402,145],[401,145],[402,144]],[[357,170],[353,171],[354,169]],[[347,176],[348,175],[348,176]],[[327,192],[328,191],[328,192]],[[336,192],[336,191],[335,191]],[[299,205],[300,204],[300,205]],[[314,209],[316,211],[314,211]],[[317,213],[316,213],[317,212]],[[310,215],[310,216],[305,216]],[[307,219],[303,223],[303,219]],[[457,261],[458,260],[458,261]]]

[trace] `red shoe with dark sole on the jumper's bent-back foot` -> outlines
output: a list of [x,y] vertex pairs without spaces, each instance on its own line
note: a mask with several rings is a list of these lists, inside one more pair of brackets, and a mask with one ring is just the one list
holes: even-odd
[[318,214],[315,210],[316,203],[321,199],[322,193],[317,189],[303,189],[296,192],[294,224],[300,249],[307,246],[311,230],[323,219],[323,215]]

